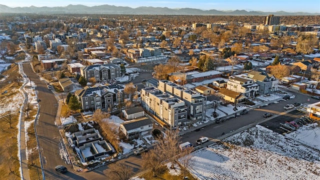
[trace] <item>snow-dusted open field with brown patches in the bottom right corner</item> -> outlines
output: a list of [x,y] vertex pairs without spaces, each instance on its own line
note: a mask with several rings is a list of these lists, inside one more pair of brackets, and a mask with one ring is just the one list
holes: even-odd
[[319,151],[259,125],[192,155],[189,171],[199,179],[320,178]]

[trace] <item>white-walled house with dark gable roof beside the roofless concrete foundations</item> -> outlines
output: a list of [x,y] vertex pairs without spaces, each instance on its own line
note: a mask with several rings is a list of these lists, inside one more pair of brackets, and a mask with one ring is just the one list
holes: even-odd
[[119,127],[127,138],[134,138],[139,135],[139,132],[148,131],[152,128],[152,121],[146,117],[142,119],[124,121]]

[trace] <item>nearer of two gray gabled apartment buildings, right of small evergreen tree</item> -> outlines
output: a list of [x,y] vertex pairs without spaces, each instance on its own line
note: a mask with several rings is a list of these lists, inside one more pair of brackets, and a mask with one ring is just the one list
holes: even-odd
[[83,110],[113,108],[114,93],[108,91],[105,86],[89,87],[75,91],[78,101]]

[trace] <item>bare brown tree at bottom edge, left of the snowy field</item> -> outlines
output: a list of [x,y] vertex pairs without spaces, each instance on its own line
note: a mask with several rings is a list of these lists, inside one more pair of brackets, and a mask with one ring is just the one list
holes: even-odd
[[128,180],[133,173],[133,168],[124,164],[118,163],[110,166],[110,173],[107,175],[109,179]]

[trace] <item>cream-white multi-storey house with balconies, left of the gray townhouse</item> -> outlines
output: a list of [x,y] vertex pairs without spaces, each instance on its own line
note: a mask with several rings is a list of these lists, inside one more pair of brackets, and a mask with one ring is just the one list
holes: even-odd
[[247,77],[230,76],[226,88],[234,92],[242,93],[242,95],[246,97],[251,97],[257,93],[259,85],[255,83],[253,79]]

